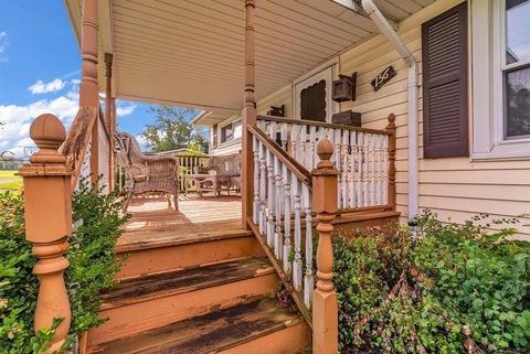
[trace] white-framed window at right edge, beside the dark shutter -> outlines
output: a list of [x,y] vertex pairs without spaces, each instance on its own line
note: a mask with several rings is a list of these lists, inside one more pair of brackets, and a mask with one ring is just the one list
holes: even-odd
[[473,158],[530,158],[530,0],[471,0]]

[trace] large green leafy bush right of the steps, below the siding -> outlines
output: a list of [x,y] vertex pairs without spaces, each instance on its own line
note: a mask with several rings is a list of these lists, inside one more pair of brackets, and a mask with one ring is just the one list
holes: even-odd
[[[422,237],[335,239],[342,353],[528,353],[530,245],[426,213]],[[513,221],[501,221],[513,223]]]

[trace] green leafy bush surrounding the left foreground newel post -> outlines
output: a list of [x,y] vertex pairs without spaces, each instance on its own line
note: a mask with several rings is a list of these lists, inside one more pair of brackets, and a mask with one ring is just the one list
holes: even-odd
[[[81,182],[73,196],[73,219],[78,226],[68,239],[66,270],[72,326],[68,343],[103,321],[97,319],[98,294],[114,286],[113,277],[119,270],[115,245],[127,217],[119,215],[119,203],[114,194],[103,195],[95,187]],[[12,193],[0,193],[0,353],[40,353],[53,337],[54,326],[33,333],[33,317],[39,280],[32,275],[36,259],[25,240],[23,199]]]

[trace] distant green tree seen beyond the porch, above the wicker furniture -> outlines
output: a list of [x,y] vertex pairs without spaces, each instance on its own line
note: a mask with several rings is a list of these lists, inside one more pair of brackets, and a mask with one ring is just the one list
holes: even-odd
[[208,140],[190,124],[191,118],[197,115],[195,109],[151,106],[149,111],[156,115],[157,120],[153,125],[147,125],[141,136],[151,151],[208,150]]

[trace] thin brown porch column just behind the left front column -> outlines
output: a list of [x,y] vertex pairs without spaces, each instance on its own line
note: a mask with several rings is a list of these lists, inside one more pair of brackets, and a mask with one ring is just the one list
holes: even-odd
[[108,191],[114,191],[115,184],[115,162],[114,162],[114,138],[116,131],[116,121],[114,116],[114,97],[113,97],[113,54],[105,53],[105,122],[110,133],[110,151],[108,154]]

